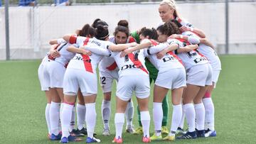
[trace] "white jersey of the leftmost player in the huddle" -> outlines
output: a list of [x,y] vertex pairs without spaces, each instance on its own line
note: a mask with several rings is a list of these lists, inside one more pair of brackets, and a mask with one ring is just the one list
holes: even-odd
[[60,57],[56,57],[54,60],[55,62],[59,62],[61,65],[67,65],[68,62],[75,56],[75,53],[68,52],[67,48],[72,45],[68,42],[63,41],[58,45],[58,52],[60,52]]

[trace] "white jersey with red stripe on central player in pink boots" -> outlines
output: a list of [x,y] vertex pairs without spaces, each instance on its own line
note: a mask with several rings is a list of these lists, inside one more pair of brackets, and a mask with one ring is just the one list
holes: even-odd
[[117,62],[117,67],[119,67],[119,77],[137,74],[138,71],[149,75],[145,66],[144,50],[137,50],[125,55],[125,57],[120,57],[120,54],[121,52],[112,52],[111,55],[111,57],[114,57],[115,62]]

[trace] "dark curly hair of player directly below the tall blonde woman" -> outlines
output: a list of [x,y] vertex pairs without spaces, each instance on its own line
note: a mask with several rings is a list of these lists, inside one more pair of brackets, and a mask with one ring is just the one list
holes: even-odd
[[172,34],[181,34],[181,31],[179,30],[176,23],[171,21],[164,23],[164,25],[159,26],[156,30],[168,36]]

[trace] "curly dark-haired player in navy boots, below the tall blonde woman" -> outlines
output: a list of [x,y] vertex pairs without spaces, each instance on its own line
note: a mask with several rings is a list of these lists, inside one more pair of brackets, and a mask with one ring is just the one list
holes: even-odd
[[[181,34],[173,22],[164,23],[164,25],[157,28],[159,33],[159,41],[164,41],[172,34]],[[188,45],[184,40],[171,39],[167,43],[178,43],[182,45]],[[183,111],[186,114],[188,121],[188,132],[178,138],[197,138],[204,137],[204,119],[205,109],[202,103],[203,95],[206,92],[206,86],[211,84],[212,81],[212,69],[206,57],[203,57],[196,50],[188,52],[179,52],[176,50],[178,57],[183,61],[186,68],[187,75],[187,87],[183,95]],[[193,105],[194,104],[194,105]],[[195,128],[195,120],[197,123],[197,131]]]

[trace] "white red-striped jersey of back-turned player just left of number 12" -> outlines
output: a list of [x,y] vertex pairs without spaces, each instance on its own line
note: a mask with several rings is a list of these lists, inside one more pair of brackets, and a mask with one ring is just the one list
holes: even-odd
[[[86,45],[88,48],[101,48],[107,50],[110,42],[104,40],[97,40],[97,38],[75,37],[76,45],[78,47]],[[68,69],[85,70],[87,72],[96,73],[97,64],[102,60],[103,55],[98,55],[92,52],[92,55],[76,54],[68,64]]]

